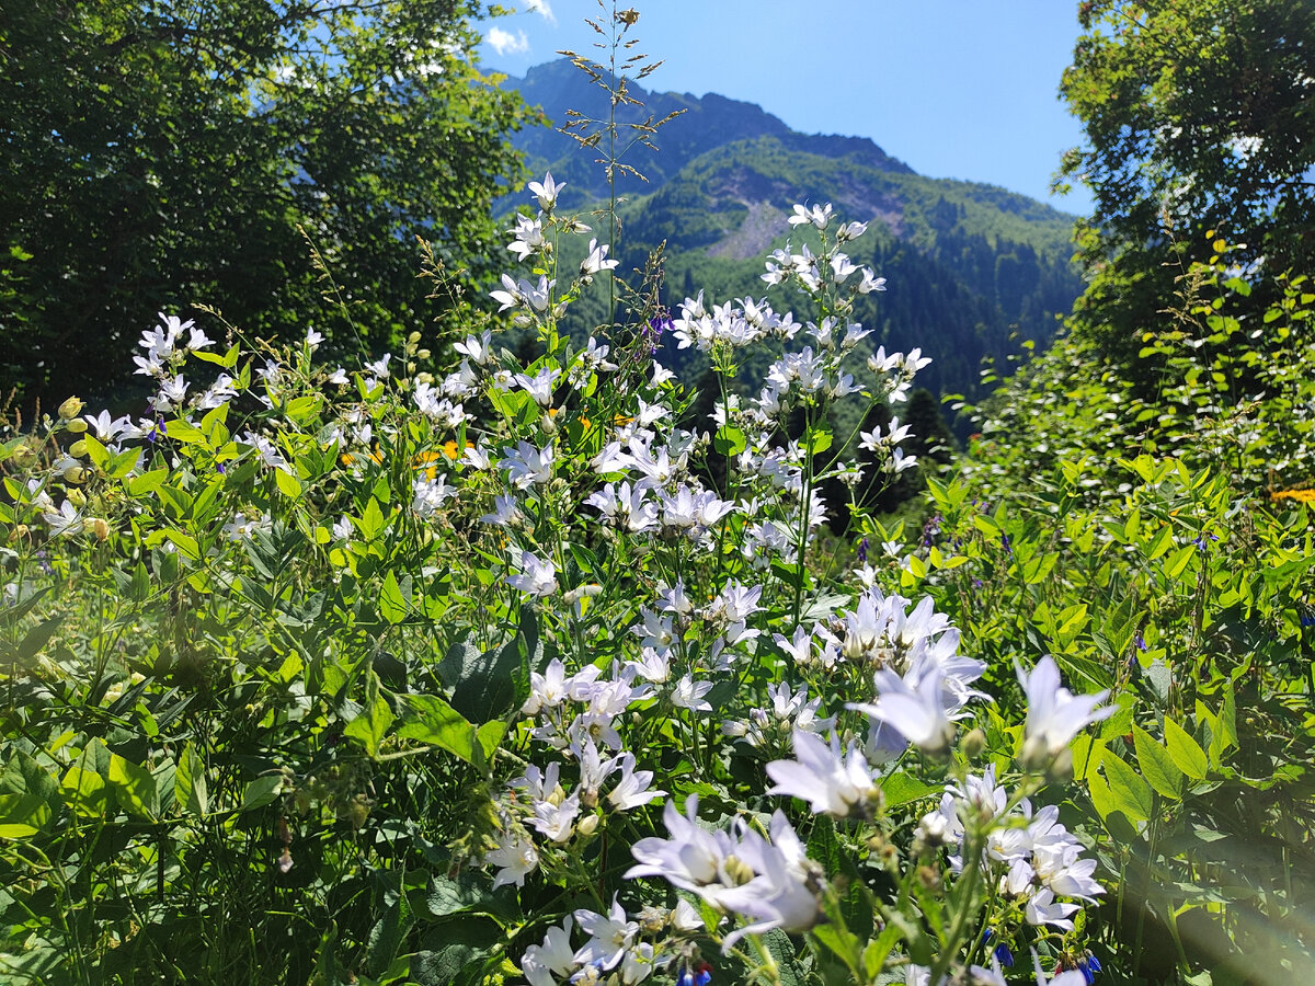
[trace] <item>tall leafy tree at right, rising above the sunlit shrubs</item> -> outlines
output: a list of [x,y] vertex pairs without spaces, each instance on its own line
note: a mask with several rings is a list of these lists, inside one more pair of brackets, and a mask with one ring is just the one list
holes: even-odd
[[1245,245],[1230,254],[1243,267],[1315,266],[1315,5],[1085,0],[1078,17],[1060,87],[1088,138],[1060,176],[1095,196],[1077,316],[1130,362],[1220,237]]

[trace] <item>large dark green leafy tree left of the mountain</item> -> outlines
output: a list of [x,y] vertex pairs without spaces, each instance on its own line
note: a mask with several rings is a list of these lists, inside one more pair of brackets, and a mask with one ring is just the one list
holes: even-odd
[[475,63],[483,8],[5,3],[0,384],[104,392],[158,310],[196,304],[351,347],[421,327],[417,237],[480,276],[517,170],[526,110]]

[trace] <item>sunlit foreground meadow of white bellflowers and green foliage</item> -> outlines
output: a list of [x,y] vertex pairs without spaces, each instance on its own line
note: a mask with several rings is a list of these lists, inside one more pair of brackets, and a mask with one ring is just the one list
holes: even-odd
[[876,230],[668,305],[560,192],[497,316],[162,314],[5,433],[5,981],[1308,981],[1308,280],[1202,233],[1141,379],[1074,331],[951,461]]

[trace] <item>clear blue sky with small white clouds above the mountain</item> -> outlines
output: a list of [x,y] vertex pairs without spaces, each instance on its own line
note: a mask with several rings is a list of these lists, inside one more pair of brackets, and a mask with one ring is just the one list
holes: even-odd
[[[514,0],[513,0],[514,1]],[[510,5],[510,4],[508,4]],[[484,66],[523,75],[598,39],[596,0],[519,0],[485,26]],[[1077,0],[631,0],[646,85],[757,103],[796,130],[869,137],[932,177],[1049,196],[1081,128],[1057,99]],[[608,9],[611,9],[610,0]]]

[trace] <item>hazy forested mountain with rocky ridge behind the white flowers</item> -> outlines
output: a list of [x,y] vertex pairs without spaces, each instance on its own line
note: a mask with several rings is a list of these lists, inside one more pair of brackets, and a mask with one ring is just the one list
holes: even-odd
[[[594,118],[609,110],[606,91],[567,59],[508,85],[558,125],[579,118],[567,110]],[[619,160],[647,180],[617,171],[617,256],[625,270],[643,267],[665,243],[669,305],[700,289],[717,301],[761,294],[763,258],[786,243],[790,206],[805,201],[830,201],[846,220],[871,223],[853,259],[885,276],[888,291],[864,298],[860,318],[877,330],[876,343],[920,346],[934,363],[919,381],[940,393],[973,394],[984,359],[999,360],[1024,340],[1048,342],[1081,293],[1069,263],[1073,217],[1048,205],[918,175],[867,138],[802,134],[751,103],[634,83],[629,95],[643,106],[617,106]],[[636,125],[676,112],[652,135],[656,154],[636,142]],[[596,160],[604,147],[581,147],[547,126],[519,133],[514,143],[533,172],[567,181],[563,208],[584,212],[606,201],[608,179]],[[504,202],[510,209],[523,196]],[[790,298],[778,294],[775,304],[789,308]]]

